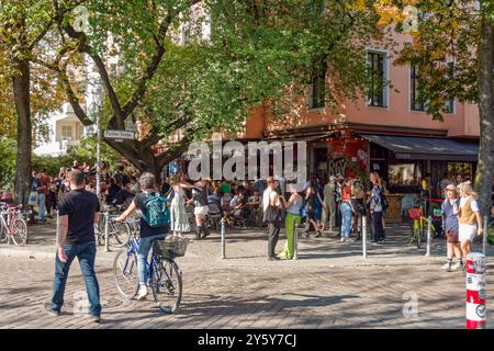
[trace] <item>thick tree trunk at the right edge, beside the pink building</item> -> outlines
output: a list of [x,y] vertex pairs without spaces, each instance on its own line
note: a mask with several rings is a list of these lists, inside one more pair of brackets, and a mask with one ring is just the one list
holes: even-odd
[[491,184],[493,176],[493,24],[483,12],[479,43],[479,118],[480,144],[475,190],[480,194],[482,216],[491,212]]

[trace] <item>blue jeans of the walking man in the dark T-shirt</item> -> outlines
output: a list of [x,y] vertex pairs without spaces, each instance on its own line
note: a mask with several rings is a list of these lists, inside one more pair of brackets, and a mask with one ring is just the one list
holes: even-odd
[[97,252],[96,242],[72,246],[66,245],[64,246],[64,251],[68,258],[65,263],[60,262],[58,259],[58,252],[56,253],[52,308],[59,312],[64,305],[65,285],[67,283],[70,264],[77,257],[79,260],[80,270],[82,271],[82,276],[85,279],[89,303],[91,304],[91,315],[100,315],[100,286],[98,285],[98,279],[94,272],[94,259]]

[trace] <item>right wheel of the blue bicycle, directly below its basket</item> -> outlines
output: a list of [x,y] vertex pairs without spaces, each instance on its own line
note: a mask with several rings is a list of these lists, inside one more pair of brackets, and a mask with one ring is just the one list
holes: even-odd
[[153,274],[151,286],[158,308],[164,313],[176,312],[182,299],[182,274],[178,264],[161,259]]

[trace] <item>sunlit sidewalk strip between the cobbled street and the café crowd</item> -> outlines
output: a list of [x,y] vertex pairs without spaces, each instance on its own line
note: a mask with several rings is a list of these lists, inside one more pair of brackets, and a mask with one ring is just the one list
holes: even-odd
[[[15,257],[24,259],[55,259],[55,220],[44,225],[30,226],[29,245],[15,247],[0,245],[0,257]],[[187,235],[193,239],[193,234]],[[311,267],[372,267],[372,265],[424,265],[438,264],[445,261],[446,240],[435,239],[431,242],[430,257],[425,257],[426,247],[417,249],[407,246],[409,227],[407,225],[393,225],[386,228],[386,241],[382,245],[368,242],[367,259],[362,257],[362,242],[340,242],[334,235],[325,234],[322,238],[303,238],[299,236],[299,260],[267,261],[268,235],[267,228],[227,229],[226,259],[221,259],[221,235],[212,235],[202,240],[192,240],[184,258],[178,259],[180,264],[217,264],[222,267],[278,267],[311,265]],[[284,229],[280,235],[277,251],[281,251],[285,242]],[[120,249],[99,247],[98,260],[111,261]],[[482,245],[474,244],[472,251],[482,252]],[[487,245],[487,260],[494,257],[494,248]]]

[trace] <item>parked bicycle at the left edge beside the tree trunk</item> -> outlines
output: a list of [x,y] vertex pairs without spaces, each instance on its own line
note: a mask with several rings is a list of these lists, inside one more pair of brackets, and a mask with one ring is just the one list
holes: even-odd
[[25,245],[29,231],[22,205],[9,207],[7,204],[1,204],[0,206],[0,241],[9,242],[11,238],[15,246]]

